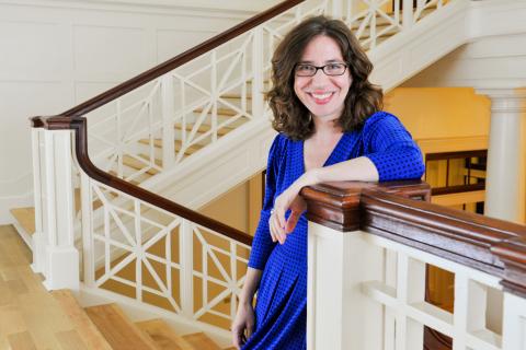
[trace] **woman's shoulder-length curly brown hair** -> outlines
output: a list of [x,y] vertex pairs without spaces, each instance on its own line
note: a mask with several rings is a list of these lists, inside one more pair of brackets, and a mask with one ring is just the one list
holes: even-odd
[[318,35],[336,42],[352,77],[344,110],[336,121],[342,130],[361,128],[370,115],[382,108],[381,89],[368,81],[373,63],[345,23],[323,15],[307,19],[284,37],[272,58],[273,88],[267,96],[274,112],[272,126],[293,140],[305,140],[315,132],[310,112],[294,92],[294,69],[306,46]]

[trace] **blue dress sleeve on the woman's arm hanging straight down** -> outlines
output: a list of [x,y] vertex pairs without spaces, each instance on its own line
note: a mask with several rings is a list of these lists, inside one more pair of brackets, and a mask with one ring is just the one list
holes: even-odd
[[282,155],[281,136],[276,136],[268,152],[268,161],[266,165],[266,186],[263,209],[261,210],[260,223],[254,233],[252,249],[250,252],[249,267],[263,270],[271,255],[272,249],[276,245],[272,242],[271,231],[268,229],[268,219],[271,218],[271,209],[274,207],[274,195],[276,192],[276,179],[279,171],[279,158]]

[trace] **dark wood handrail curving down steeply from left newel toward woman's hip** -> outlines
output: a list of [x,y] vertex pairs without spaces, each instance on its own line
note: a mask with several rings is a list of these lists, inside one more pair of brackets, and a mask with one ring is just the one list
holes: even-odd
[[47,130],[75,130],[75,150],[79,166],[91,178],[118,189],[129,196],[144,200],[155,207],[161,208],[175,215],[187,219],[202,226],[216,231],[247,245],[252,245],[252,236],[235,228],[205,217],[192,209],[178,205],[170,199],[156,195],[147,189],[135,186],[124,179],[113,176],[98,168],[88,156],[88,127],[84,117],[50,117],[32,119],[33,125],[42,125]]

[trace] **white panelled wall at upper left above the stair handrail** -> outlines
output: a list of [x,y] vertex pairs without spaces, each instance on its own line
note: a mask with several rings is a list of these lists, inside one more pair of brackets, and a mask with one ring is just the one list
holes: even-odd
[[64,112],[277,0],[0,0],[0,224],[32,206],[28,117]]

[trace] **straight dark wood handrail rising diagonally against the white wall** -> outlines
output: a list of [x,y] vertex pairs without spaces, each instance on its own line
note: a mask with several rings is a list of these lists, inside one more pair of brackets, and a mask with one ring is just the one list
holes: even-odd
[[66,117],[79,117],[83,116],[84,114],[99,108],[102,105],[105,105],[122,95],[152,81],[153,79],[157,79],[165,73],[168,73],[171,70],[174,70],[178,67],[183,66],[184,63],[215,49],[216,47],[227,43],[228,40],[231,40],[232,38],[247,33],[248,31],[256,27],[258,25],[271,20],[272,18],[275,18],[276,15],[294,8],[298,3],[304,2],[305,0],[286,0],[283,1],[275,7],[261,12],[250,19],[248,19],[244,22],[241,22],[240,24],[231,27],[230,30],[227,30],[226,32],[222,32],[208,40],[192,47],[191,49],[169,59],[168,61],[160,63],[142,73],[139,75],[129,79],[128,81],[125,81],[124,83],[118,84],[115,88],[110,89],[108,91],[96,95],[93,98],[90,98],[80,105],[68,109],[64,113],[60,114],[60,116],[66,116]]

